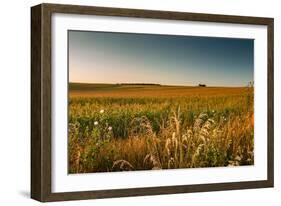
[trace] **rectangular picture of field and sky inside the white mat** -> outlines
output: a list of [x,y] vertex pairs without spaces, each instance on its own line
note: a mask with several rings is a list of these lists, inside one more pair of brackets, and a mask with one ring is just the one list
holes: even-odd
[[254,165],[254,39],[67,32],[69,174]]

